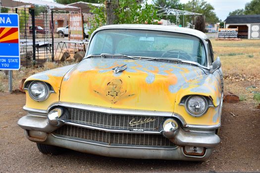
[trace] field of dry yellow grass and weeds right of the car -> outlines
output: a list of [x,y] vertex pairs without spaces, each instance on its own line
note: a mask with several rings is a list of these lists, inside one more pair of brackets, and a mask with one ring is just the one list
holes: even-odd
[[211,40],[214,56],[220,57],[224,89],[239,95],[241,101],[254,102],[254,94],[246,87],[260,91],[260,40]]

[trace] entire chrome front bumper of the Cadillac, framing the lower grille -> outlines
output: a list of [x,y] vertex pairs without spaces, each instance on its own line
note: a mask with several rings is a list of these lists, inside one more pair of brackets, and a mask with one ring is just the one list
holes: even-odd
[[[187,131],[179,128],[174,131],[174,135],[164,134],[164,131],[154,131],[156,134],[163,134],[176,146],[172,147],[137,147],[131,146],[112,146],[100,143],[93,143],[84,139],[77,139],[73,137],[64,137],[52,133],[63,125],[72,125],[84,127],[88,129],[104,130],[108,132],[122,132],[130,133],[127,130],[108,130],[102,128],[95,128],[80,124],[75,124],[66,121],[60,115],[55,117],[41,116],[28,114],[19,119],[18,125],[26,131],[29,140],[40,142],[49,145],[60,146],[80,152],[109,156],[109,157],[123,157],[123,158],[137,158],[137,159],[166,159],[166,160],[187,160],[187,161],[202,161],[207,159],[212,148],[219,142],[219,137],[214,133],[214,130],[209,131]],[[148,133],[148,131],[145,131]],[[131,131],[131,133],[144,133],[144,131]],[[183,151],[184,146],[202,146],[207,148],[204,156],[185,155]]]

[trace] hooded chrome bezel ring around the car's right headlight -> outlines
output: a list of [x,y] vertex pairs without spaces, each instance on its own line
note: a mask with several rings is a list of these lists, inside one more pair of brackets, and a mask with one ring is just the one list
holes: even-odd
[[[205,101],[205,105],[206,105],[206,106],[205,106],[205,110],[202,111],[202,112],[199,113],[199,114],[194,114],[194,113],[191,112],[191,111],[189,110],[189,108],[188,108],[188,102],[189,102],[189,100],[190,100],[192,97],[195,97],[195,96],[201,97],[201,98]],[[183,105],[183,106],[185,107],[186,112],[187,112],[189,115],[193,116],[193,117],[201,117],[201,116],[205,115],[205,114],[208,112],[208,108],[213,106],[212,101],[210,101],[208,97],[203,96],[203,95],[188,95],[188,96],[185,96],[185,97],[182,99],[180,105]]]

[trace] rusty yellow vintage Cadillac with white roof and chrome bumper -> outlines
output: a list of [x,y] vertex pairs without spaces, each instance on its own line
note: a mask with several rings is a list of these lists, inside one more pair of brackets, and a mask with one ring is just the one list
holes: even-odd
[[34,74],[24,89],[18,125],[44,154],[203,161],[220,142],[221,63],[197,30],[101,27],[81,62]]

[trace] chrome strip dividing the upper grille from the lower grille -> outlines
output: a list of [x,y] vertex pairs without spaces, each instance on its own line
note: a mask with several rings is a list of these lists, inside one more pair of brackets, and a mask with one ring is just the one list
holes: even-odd
[[[87,128],[87,129],[92,129],[92,130],[101,130],[101,131],[106,131],[106,132],[116,132],[116,133],[142,133],[142,134],[161,134],[159,131],[130,131],[130,130],[113,130],[113,129],[104,129],[104,128],[98,128],[98,127],[93,127],[93,126],[88,126],[88,125],[82,125],[82,124],[77,124],[73,122],[65,122],[65,125],[71,125],[71,126],[77,126],[81,128]],[[133,128],[134,129],[134,128]]]

